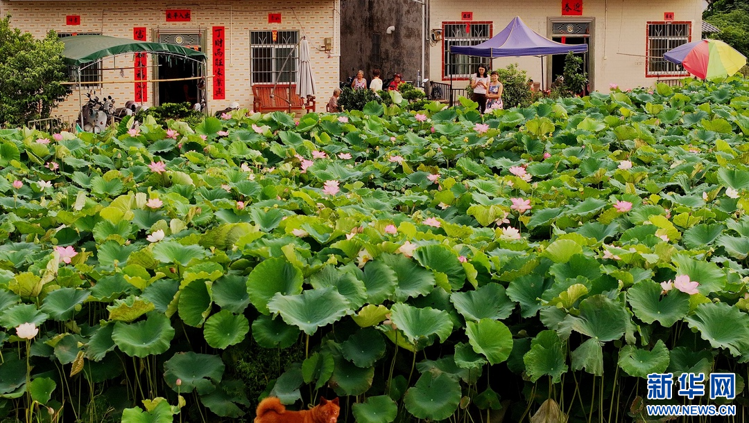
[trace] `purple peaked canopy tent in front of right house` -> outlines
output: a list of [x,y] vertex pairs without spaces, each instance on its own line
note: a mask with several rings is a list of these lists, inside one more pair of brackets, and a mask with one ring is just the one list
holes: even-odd
[[[450,53],[458,55],[479,56],[482,58],[506,58],[509,56],[539,56],[541,58],[541,83],[544,81],[544,56],[566,55],[568,52],[585,53],[587,44],[562,44],[549,40],[528,28],[515,16],[499,34],[476,46],[450,46]],[[450,73],[450,90],[452,92],[452,72]]]

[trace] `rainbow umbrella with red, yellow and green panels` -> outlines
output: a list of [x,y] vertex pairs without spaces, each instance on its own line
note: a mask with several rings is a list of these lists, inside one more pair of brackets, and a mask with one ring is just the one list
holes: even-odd
[[739,72],[747,58],[721,40],[700,40],[669,50],[663,58],[699,78],[725,78]]

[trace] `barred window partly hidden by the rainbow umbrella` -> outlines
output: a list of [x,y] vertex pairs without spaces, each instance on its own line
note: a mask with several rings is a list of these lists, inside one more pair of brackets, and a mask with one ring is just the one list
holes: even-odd
[[688,75],[682,65],[663,58],[665,52],[675,49],[691,39],[691,22],[648,22],[646,76]]

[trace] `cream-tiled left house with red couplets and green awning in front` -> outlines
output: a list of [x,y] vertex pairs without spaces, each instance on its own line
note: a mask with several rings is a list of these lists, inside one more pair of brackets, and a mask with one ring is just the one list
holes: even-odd
[[[0,14],[10,14],[12,26],[35,37],[53,29],[61,37],[102,34],[173,43],[205,52],[211,111],[231,102],[252,108],[252,84],[288,83],[288,78],[294,82],[294,47],[301,37],[309,42],[318,111],[324,111],[339,81],[339,9],[339,0],[197,0],[184,5],[163,0],[0,0]],[[286,61],[290,53],[291,60]],[[140,75],[149,82],[134,83],[136,72],[142,72]],[[154,80],[189,78],[198,76],[198,72],[195,64],[157,55],[148,55],[145,63],[139,63],[133,55],[107,58],[84,72],[83,90],[111,95],[118,106],[136,100],[136,94],[145,105],[193,100],[197,80],[187,86],[184,81]],[[136,90],[139,85],[143,90]],[[73,91],[54,114],[70,119],[78,111],[79,96]]]

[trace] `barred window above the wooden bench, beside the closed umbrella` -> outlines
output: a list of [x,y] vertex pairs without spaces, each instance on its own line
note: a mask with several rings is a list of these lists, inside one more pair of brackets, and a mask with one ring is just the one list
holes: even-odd
[[252,84],[297,81],[299,31],[250,31]]

